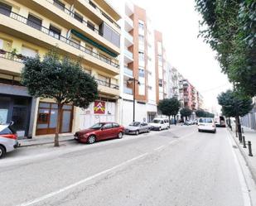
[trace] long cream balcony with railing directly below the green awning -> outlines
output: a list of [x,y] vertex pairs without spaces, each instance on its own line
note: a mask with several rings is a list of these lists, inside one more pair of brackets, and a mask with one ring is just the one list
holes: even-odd
[[[32,42],[33,40],[33,42],[35,42],[37,45],[42,45],[49,49],[51,49],[52,46],[58,45],[60,50],[64,50],[65,52],[69,52],[76,56],[83,55],[84,60],[89,61],[90,64],[96,64],[102,69],[109,69],[114,74],[118,74],[117,69],[119,68],[119,65],[116,64],[111,58],[105,57],[104,55],[99,55],[93,50],[89,50],[84,46],[80,46],[80,44],[76,43],[75,41],[71,41],[65,36],[53,35],[53,33],[48,28],[37,25],[35,22],[31,22],[26,17],[22,17],[15,12],[10,12],[9,16],[3,14],[0,15],[0,26],[3,27],[4,31],[10,31],[13,34],[16,34],[16,36],[26,36],[26,38],[28,34],[33,34],[33,36],[29,36],[30,41]],[[9,17],[14,21],[7,20],[5,17]],[[15,21],[20,22],[23,25],[20,25]],[[42,33],[45,36],[41,35]]]

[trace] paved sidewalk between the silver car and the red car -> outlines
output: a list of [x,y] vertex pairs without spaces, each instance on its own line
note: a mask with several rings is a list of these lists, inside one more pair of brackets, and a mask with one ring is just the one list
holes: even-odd
[[[74,140],[73,134],[60,134],[59,141],[72,141]],[[36,136],[31,139],[22,139],[18,140],[21,146],[37,146],[37,145],[45,145],[45,144],[53,144],[54,143],[54,135],[47,136]]]

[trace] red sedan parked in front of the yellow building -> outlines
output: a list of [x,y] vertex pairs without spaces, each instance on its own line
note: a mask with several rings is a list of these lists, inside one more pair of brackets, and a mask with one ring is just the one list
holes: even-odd
[[75,140],[93,144],[95,141],[123,137],[124,127],[114,122],[99,122],[89,129],[75,132]]

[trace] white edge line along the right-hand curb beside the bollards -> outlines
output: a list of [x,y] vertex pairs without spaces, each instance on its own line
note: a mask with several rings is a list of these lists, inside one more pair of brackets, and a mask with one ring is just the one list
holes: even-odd
[[232,154],[234,156],[234,164],[235,164],[235,167],[237,169],[238,176],[239,176],[239,182],[241,184],[242,196],[243,196],[243,199],[244,199],[244,206],[252,206],[250,195],[249,195],[249,188],[246,184],[246,180],[245,180],[245,177],[244,177],[244,172],[242,170],[242,166],[240,165],[237,154],[235,154],[234,149],[232,149],[233,148],[232,146],[235,145],[235,143],[234,144],[232,143],[232,141],[234,141],[234,140],[232,139],[232,141],[231,141],[232,137],[231,137],[231,135],[229,134],[228,131],[226,131],[226,133],[229,136],[229,138],[228,138],[229,139],[229,145],[230,145]]

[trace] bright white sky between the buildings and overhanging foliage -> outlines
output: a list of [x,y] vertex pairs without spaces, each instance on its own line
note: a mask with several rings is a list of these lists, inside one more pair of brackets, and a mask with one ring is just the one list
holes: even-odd
[[[109,0],[118,10],[122,1],[125,0]],[[146,9],[152,25],[162,32],[167,60],[203,95],[206,108],[220,112],[217,96],[230,89],[231,84],[221,73],[215,52],[197,37],[200,15],[195,11],[194,0],[132,2]]]

